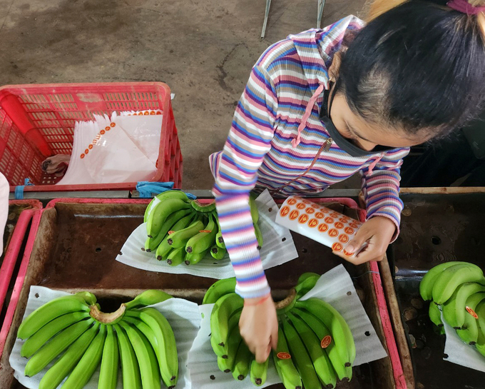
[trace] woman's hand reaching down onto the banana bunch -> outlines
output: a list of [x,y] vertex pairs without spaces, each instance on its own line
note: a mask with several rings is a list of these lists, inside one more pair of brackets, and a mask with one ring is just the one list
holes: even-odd
[[278,320],[271,295],[245,298],[239,330],[257,362],[265,362],[278,342]]

